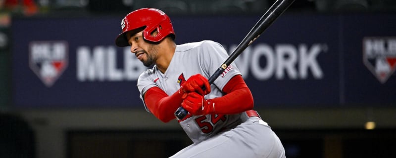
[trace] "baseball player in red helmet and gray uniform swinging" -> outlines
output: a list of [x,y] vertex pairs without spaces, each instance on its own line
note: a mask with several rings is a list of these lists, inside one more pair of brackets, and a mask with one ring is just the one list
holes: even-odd
[[209,84],[228,57],[221,44],[177,45],[171,20],[155,8],[132,11],[121,28],[116,45],[130,46],[145,66],[153,66],[137,84],[146,110],[163,122],[176,119],[180,106],[189,112],[177,121],[194,143],[171,158],[285,158],[277,135],[252,110],[252,94],[234,64]]

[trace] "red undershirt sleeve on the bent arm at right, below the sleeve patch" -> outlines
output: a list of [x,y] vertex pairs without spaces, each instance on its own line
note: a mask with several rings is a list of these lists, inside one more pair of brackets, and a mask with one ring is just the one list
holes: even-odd
[[223,88],[222,97],[209,99],[213,114],[238,114],[253,109],[253,96],[241,75],[234,76]]

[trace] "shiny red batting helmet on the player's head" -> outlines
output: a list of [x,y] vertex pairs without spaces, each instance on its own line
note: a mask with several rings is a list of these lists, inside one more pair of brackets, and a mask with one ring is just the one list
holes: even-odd
[[[115,44],[117,46],[128,46],[126,33],[143,28],[143,38],[152,42],[160,41],[170,34],[175,38],[172,22],[163,11],[155,8],[141,8],[130,12],[122,19],[122,33],[115,39]],[[157,31],[158,34],[151,36],[153,31]]]

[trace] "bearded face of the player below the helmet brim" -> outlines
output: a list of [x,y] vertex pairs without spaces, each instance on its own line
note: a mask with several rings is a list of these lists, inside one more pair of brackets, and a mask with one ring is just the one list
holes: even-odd
[[127,33],[127,39],[131,45],[131,52],[145,66],[151,66],[157,60],[158,49],[155,44],[148,43],[143,39],[143,31],[132,35]]

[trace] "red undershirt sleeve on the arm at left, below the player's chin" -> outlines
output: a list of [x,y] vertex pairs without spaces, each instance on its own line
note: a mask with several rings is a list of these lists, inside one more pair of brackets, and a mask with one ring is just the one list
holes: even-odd
[[181,106],[183,92],[176,91],[168,96],[159,87],[151,87],[144,94],[144,101],[148,110],[159,120],[169,122],[175,119],[175,111]]

